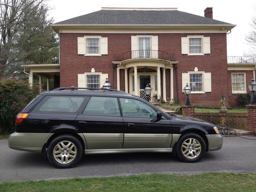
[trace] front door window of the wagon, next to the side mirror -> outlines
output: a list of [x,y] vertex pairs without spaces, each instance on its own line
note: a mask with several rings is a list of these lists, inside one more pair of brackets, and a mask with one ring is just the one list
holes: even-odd
[[156,118],[157,111],[150,105],[136,99],[120,98],[123,117]]

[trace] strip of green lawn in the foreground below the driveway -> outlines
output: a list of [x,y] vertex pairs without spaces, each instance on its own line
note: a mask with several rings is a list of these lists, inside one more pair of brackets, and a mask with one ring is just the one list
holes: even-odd
[[256,174],[137,175],[0,183],[0,191],[255,191]]

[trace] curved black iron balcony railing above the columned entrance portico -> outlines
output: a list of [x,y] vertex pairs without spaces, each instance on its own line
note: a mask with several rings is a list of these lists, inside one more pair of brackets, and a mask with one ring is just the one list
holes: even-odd
[[126,59],[133,59],[133,58],[155,58],[155,59],[164,59],[175,61],[175,54],[170,54],[166,51],[159,51],[159,50],[134,50],[134,51],[127,51],[124,53],[117,53],[114,55],[115,61],[122,61]]

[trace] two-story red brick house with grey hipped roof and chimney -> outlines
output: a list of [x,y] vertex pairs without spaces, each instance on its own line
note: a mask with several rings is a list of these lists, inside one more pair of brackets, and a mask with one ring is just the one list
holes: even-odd
[[[227,65],[226,35],[235,25],[175,8],[102,8],[52,24],[59,34],[60,87],[112,89],[151,100],[220,105],[246,93],[255,64]],[[234,66],[235,65],[235,66]],[[234,67],[233,67],[234,66]],[[244,67],[246,66],[246,67]],[[229,69],[228,69],[229,68]],[[228,104],[228,103],[227,103]]]

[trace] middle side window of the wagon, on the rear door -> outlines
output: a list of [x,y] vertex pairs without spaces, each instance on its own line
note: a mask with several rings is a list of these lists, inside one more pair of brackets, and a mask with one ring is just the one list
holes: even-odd
[[91,97],[83,115],[120,116],[116,97]]

